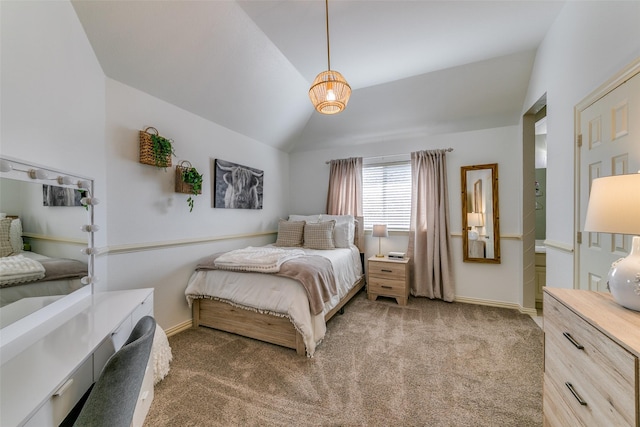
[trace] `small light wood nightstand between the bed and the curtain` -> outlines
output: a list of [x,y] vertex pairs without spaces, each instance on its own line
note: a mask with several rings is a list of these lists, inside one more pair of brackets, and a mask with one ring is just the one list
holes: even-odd
[[395,298],[400,305],[409,299],[409,258],[390,259],[372,256],[367,264],[367,297]]

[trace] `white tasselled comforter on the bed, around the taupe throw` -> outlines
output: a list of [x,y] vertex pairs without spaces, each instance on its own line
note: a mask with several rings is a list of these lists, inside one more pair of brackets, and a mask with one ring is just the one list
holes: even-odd
[[302,335],[307,356],[312,357],[326,332],[324,315],[362,277],[360,252],[353,245],[332,250],[295,250],[302,250],[307,255],[320,255],[331,261],[338,293],[325,304],[322,313],[311,315],[307,294],[296,280],[264,273],[225,270],[195,271],[185,290],[189,306],[194,299],[212,298],[247,310],[287,317]]

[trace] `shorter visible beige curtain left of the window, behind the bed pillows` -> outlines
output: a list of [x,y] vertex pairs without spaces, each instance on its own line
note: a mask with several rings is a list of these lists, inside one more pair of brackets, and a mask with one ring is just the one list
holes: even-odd
[[362,157],[331,160],[327,214],[362,216]]

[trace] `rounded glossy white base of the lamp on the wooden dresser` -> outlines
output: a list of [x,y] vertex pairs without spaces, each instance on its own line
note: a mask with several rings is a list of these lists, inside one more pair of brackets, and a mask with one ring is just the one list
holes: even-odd
[[609,291],[621,306],[640,311],[640,236],[633,237],[629,255],[611,265]]

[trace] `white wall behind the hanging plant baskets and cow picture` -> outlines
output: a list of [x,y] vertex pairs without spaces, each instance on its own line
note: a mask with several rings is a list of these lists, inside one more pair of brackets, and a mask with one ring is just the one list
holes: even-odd
[[[191,319],[184,290],[198,259],[275,240],[269,235],[216,241],[277,229],[278,218],[288,213],[289,156],[117,81],[107,79],[106,87],[106,289],[155,288],[155,317],[164,328],[173,327]],[[146,126],[175,141],[172,168],[138,162],[138,132]],[[213,208],[216,158],[264,171],[263,209]],[[193,212],[188,195],[174,192],[175,165],[182,160],[204,174]],[[212,241],[194,243],[199,239]]]

